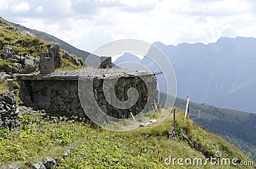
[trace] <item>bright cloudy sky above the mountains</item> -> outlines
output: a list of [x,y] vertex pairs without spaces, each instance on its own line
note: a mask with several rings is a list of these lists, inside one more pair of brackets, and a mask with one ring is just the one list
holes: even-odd
[[0,16],[88,52],[126,38],[177,45],[256,37],[254,0],[1,0]]

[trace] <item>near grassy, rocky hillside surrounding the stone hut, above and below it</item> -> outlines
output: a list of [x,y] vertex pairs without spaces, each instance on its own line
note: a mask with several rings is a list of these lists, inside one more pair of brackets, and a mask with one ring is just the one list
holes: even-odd
[[[173,138],[170,138],[173,113],[166,121],[120,133],[99,128],[88,119],[65,117],[64,112],[35,111],[25,107],[19,98],[20,85],[16,81],[13,82],[14,92],[6,93],[6,78],[15,80],[19,73],[38,73],[41,54],[54,57],[55,71],[77,70],[81,68],[83,59],[68,54],[57,43],[41,40],[31,32],[19,29],[2,18],[0,20],[0,168],[36,168],[43,163],[47,168],[51,168],[51,165],[56,168],[57,165],[58,168],[179,168],[177,161],[166,165],[166,158],[172,156],[207,161],[207,158],[216,158],[216,152],[217,155],[222,154],[218,156],[220,161],[231,160],[231,166],[218,164],[219,168],[243,168],[232,164],[235,158],[239,164],[246,162],[252,165],[252,159],[221,136],[209,133],[189,119],[184,122],[182,100],[179,103],[182,109],[176,109],[176,137]],[[195,108],[191,108],[191,117],[192,110],[196,112],[198,108],[205,106],[195,104]],[[171,111],[167,108],[164,110]],[[221,112],[215,114],[219,119],[221,115]],[[205,116],[208,117],[207,113]],[[157,112],[152,119],[158,118]],[[212,117],[209,118],[211,120]],[[246,118],[244,115],[243,122]],[[118,125],[113,124],[113,127]],[[248,126],[245,127],[247,129]],[[234,137],[228,139],[234,140]],[[253,138],[248,139],[249,142]],[[238,138],[235,141],[242,142]],[[214,160],[212,162],[218,161]],[[193,165],[185,166],[195,168]],[[209,161],[207,165],[196,166],[216,168]]]

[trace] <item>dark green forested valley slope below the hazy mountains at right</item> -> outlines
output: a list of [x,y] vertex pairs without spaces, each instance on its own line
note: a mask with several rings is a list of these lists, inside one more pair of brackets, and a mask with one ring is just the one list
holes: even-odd
[[[162,104],[164,98],[166,98],[166,94],[161,93],[160,102]],[[186,100],[177,98],[175,107],[184,110]],[[193,103],[192,101],[189,103],[189,114],[189,118],[197,125],[204,126],[208,131],[223,136],[228,142],[239,147],[240,151],[256,161],[256,137],[254,132],[256,129],[256,114]]]

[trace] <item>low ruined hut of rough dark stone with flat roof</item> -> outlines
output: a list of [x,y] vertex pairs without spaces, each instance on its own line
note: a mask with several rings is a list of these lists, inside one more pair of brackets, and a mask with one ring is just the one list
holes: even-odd
[[[111,74],[113,77],[118,77],[115,84],[116,98],[120,101],[127,101],[127,91],[131,87],[137,89],[139,97],[136,104],[131,108],[119,109],[113,107],[108,103],[103,92],[105,73],[106,71],[102,70],[92,76],[93,72],[88,71],[84,77],[88,77],[93,85],[93,99],[96,100],[100,109],[111,117],[127,118],[130,117],[130,112],[136,115],[143,110],[147,101],[151,103],[149,104],[150,107],[145,108],[146,111],[151,110],[157,104],[157,83],[156,77],[152,73],[118,70]],[[138,77],[141,75],[145,77],[146,80],[144,81],[146,82]],[[86,117],[78,94],[79,71],[64,71],[51,75],[20,75],[19,79],[22,82],[20,96],[23,101],[34,103],[45,110],[55,110],[81,118]],[[146,84],[149,86],[148,88]],[[88,88],[86,90],[92,89]],[[151,96],[148,96],[148,90],[152,93]],[[97,111],[92,106],[86,107],[86,110],[92,112],[92,114]]]

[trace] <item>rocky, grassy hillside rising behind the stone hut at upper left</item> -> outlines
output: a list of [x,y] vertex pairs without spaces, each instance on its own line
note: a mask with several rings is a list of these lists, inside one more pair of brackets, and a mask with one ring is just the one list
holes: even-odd
[[38,72],[40,54],[50,52],[54,52],[56,57],[54,66],[58,70],[79,69],[83,64],[83,59],[68,54],[60,48],[58,43],[41,40],[0,18],[0,70],[2,72],[8,75]]

